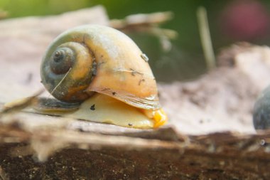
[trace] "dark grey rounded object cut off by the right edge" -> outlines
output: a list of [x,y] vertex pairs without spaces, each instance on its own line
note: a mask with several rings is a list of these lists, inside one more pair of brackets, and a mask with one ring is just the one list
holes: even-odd
[[270,129],[270,86],[259,95],[253,112],[255,129]]

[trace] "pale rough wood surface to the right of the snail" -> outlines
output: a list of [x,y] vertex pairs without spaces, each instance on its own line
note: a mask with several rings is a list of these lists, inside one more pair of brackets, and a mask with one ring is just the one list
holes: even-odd
[[233,60],[231,67],[222,66],[192,82],[160,85],[171,125],[187,134],[255,133],[252,111],[259,93],[270,84],[270,48],[245,46],[224,52],[235,51],[227,57]]

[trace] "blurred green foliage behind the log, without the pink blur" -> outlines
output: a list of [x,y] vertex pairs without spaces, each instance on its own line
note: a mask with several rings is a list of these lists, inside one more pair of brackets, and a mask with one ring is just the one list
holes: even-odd
[[[248,0],[247,0],[248,1]],[[250,0],[252,1],[252,0]],[[109,18],[124,18],[130,14],[173,11],[173,21],[163,24],[164,28],[178,31],[178,39],[173,41],[170,52],[164,53],[156,37],[145,34],[129,34],[150,58],[153,72],[158,80],[183,80],[195,78],[205,73],[196,10],[205,6],[210,23],[212,43],[215,51],[236,41],[221,31],[222,13],[225,7],[234,1],[212,0],[0,0],[0,9],[9,12],[9,17],[43,16],[60,14],[102,4]],[[269,1],[259,1],[268,6]],[[266,41],[267,40],[267,41]],[[252,42],[252,40],[249,40]],[[252,43],[270,42],[268,38],[255,39]],[[270,44],[270,43],[269,43]]]

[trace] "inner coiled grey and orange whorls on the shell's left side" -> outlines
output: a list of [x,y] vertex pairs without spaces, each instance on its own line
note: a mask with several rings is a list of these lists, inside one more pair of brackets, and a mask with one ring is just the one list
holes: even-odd
[[58,44],[53,43],[43,58],[42,83],[58,100],[81,102],[90,96],[85,90],[95,75],[95,57],[80,41]]

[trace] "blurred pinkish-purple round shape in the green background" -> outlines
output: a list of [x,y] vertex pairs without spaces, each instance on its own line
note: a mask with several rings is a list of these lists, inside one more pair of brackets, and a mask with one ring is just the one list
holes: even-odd
[[221,23],[223,33],[238,41],[269,35],[269,12],[260,1],[232,1],[222,12]]

